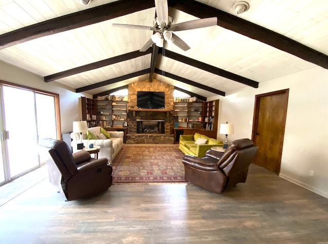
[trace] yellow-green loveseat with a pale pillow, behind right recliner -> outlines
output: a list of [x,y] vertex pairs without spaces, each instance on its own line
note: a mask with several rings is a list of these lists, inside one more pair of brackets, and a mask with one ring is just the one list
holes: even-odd
[[[197,141],[197,139],[200,139]],[[201,143],[201,144],[199,144]],[[179,149],[182,153],[196,157],[204,157],[212,146],[223,146],[223,142],[214,138],[195,133],[195,135],[180,135]]]

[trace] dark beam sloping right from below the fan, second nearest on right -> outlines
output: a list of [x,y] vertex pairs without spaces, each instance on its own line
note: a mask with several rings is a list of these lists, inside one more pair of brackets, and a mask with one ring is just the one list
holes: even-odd
[[208,71],[208,72],[213,73],[213,74],[217,74],[217,76],[221,76],[221,77],[227,78],[229,80],[233,80],[233,81],[242,83],[244,85],[248,85],[248,86],[252,86],[254,88],[258,88],[259,83],[256,82],[256,81],[253,81],[251,79],[248,79],[248,78],[245,78],[245,77],[242,77],[242,76],[238,76],[238,74],[229,72],[227,70],[220,69],[220,68],[217,68],[215,66],[212,66],[212,65],[209,65],[209,64],[206,64],[206,63],[203,63],[203,62],[188,58],[188,57],[183,56],[181,54],[172,52],[170,50],[165,50],[165,57],[170,58],[170,59],[174,59],[174,60],[179,61],[181,63],[185,63],[186,65],[191,65],[193,67],[202,69],[204,71]]

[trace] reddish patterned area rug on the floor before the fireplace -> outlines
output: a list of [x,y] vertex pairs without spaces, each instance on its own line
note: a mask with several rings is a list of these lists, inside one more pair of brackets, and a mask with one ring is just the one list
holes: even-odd
[[124,144],[112,162],[113,183],[186,182],[178,144]]

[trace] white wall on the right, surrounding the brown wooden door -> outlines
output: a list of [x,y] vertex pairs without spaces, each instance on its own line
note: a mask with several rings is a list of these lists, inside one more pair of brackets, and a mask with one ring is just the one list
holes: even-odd
[[251,138],[255,95],[286,88],[290,91],[279,176],[328,198],[328,70],[312,68],[211,100],[220,99],[219,123],[234,123],[229,141]]

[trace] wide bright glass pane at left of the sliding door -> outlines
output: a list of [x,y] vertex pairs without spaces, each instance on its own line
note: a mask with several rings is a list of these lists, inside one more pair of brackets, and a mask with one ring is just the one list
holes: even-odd
[[10,176],[14,177],[39,165],[34,92],[9,86],[3,89]]

